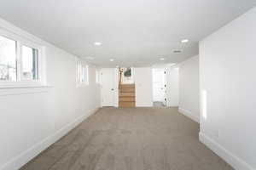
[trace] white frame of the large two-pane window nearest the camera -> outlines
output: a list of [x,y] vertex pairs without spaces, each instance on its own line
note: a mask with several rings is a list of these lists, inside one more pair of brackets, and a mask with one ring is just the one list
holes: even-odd
[[[20,37],[15,33],[5,31],[0,28],[0,36],[9,38],[16,42],[16,81],[0,80],[0,88],[29,88],[41,87],[45,85],[44,78],[44,46],[38,45],[35,42]],[[36,48],[38,50],[38,79],[37,80],[23,80],[22,78],[22,45],[29,48]]]

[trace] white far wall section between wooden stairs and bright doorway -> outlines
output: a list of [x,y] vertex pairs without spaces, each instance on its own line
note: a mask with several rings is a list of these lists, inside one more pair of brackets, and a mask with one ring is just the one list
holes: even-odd
[[136,106],[153,106],[152,68],[134,68],[134,82],[136,86]]

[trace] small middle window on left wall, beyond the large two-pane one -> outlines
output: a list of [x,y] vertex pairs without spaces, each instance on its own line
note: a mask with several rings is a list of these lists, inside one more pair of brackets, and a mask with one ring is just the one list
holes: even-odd
[[77,85],[83,86],[89,84],[89,76],[88,76],[88,65],[82,64],[79,60],[77,64]]

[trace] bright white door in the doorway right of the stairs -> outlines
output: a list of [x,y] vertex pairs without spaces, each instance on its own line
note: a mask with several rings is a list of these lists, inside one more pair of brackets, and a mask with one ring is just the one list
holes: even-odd
[[153,69],[153,100],[166,105],[166,71]]

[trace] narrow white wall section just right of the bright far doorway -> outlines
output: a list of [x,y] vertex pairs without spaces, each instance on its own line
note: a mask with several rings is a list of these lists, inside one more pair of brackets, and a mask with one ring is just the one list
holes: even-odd
[[177,107],[179,98],[179,77],[177,66],[166,67],[166,105]]

